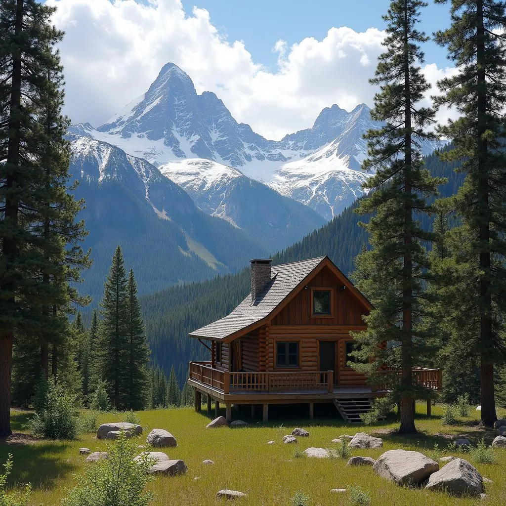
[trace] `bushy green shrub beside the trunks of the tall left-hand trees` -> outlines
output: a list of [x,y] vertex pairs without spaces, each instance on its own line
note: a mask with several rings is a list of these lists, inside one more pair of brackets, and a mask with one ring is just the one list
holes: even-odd
[[44,380],[37,388],[35,414],[28,424],[30,433],[47,439],[75,439],[74,410],[74,399],[64,392],[58,378]]

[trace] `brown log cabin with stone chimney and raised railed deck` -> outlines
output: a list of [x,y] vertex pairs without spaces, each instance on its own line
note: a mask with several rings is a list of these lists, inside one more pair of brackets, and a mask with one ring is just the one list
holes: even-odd
[[[366,328],[363,315],[372,306],[328,257],[272,266],[251,260],[251,292],[229,315],[191,332],[210,351],[210,360],[190,362],[189,384],[195,388],[195,409],[201,396],[212,399],[216,412],[226,405],[333,403],[346,421],[360,421],[374,397],[351,366],[350,332]],[[210,343],[209,344],[206,344]],[[417,381],[439,390],[441,373],[418,368]],[[428,403],[429,409],[429,403]]]

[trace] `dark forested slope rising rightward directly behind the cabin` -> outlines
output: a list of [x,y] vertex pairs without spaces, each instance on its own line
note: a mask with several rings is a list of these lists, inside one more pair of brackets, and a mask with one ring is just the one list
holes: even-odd
[[[455,165],[442,162],[436,155],[426,158],[434,176],[448,178],[440,188],[442,196],[457,190],[462,176],[454,172]],[[365,230],[358,226],[359,217],[351,207],[331,222],[305,237],[302,241],[274,255],[274,264],[297,262],[328,255],[347,275],[354,269],[353,259],[367,243]],[[421,220],[427,229],[426,218]],[[249,292],[249,267],[235,275],[219,276],[201,283],[174,286],[143,296],[142,311],[152,349],[152,361],[168,375],[172,365],[179,382],[186,378],[189,360],[205,359],[207,350],[188,333],[228,314]]]

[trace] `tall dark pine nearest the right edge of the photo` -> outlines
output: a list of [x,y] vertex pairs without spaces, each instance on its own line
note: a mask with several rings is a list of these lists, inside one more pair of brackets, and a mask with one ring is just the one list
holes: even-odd
[[496,419],[494,365],[506,357],[500,333],[506,303],[506,44],[500,34],[506,27],[505,11],[506,3],[497,0],[452,0],[451,26],[436,34],[458,69],[438,83],[442,94],[436,103],[460,113],[440,128],[454,147],[441,156],[460,161],[466,174],[448,203],[462,223],[455,236],[465,242],[454,243],[443,304],[451,305],[454,315],[461,313],[455,350],[463,357],[479,357],[481,423],[486,426]]

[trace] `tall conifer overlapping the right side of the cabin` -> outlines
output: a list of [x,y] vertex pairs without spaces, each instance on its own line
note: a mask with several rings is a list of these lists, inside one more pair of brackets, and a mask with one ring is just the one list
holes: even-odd
[[[442,182],[424,169],[420,153],[420,142],[434,138],[426,131],[434,111],[419,104],[429,89],[420,69],[420,44],[428,37],[416,29],[426,5],[393,0],[384,16],[386,51],[370,82],[381,89],[371,118],[386,124],[365,136],[368,158],[363,168],[376,172],[364,184],[370,193],[359,207],[360,214],[373,215],[364,225],[372,247],[357,257],[355,278],[374,309],[365,317],[367,330],[355,336],[361,346],[355,354],[375,360],[356,367],[371,379],[384,364],[396,371],[389,375],[389,388],[392,402],[401,407],[400,433],[416,432],[412,401],[426,395],[414,381],[413,366],[425,354],[427,332],[420,316],[428,297],[429,262],[423,243],[432,234],[420,228],[417,218],[427,212],[427,197],[435,195]],[[389,346],[382,347],[384,342]]]

